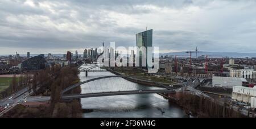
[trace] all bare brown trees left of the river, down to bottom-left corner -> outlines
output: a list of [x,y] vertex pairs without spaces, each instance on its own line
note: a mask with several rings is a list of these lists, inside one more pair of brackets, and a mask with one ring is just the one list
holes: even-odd
[[[61,99],[63,89],[80,82],[78,74],[79,70],[76,66],[55,67],[35,73],[30,87],[31,91],[34,95],[50,95],[51,101],[47,105],[36,107],[18,105],[3,117],[81,117],[80,99],[70,101]],[[80,86],[67,92],[67,94],[80,93]]]

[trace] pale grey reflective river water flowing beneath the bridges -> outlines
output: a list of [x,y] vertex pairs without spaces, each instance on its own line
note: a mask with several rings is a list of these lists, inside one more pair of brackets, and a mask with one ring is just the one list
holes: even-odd
[[[82,65],[88,68],[92,65]],[[81,81],[96,77],[112,76],[110,72],[80,72]],[[143,86],[123,78],[105,78],[103,80],[89,82],[81,85],[82,93],[98,93],[102,91],[122,91],[141,89],[160,89],[151,86]],[[158,94],[116,95],[107,97],[93,97],[81,99],[85,118],[118,117],[118,118],[183,118],[187,114],[177,105],[170,104],[167,99]]]

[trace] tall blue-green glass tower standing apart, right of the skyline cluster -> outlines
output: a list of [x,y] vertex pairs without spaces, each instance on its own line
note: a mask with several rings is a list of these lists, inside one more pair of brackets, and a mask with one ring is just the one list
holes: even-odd
[[[140,32],[136,34],[136,45],[138,48],[146,47],[146,66],[147,65],[147,56],[148,54],[152,54],[152,52],[148,53],[147,47],[152,47],[152,34],[153,30],[147,30],[144,32]],[[139,66],[142,66],[142,52],[139,52]]]

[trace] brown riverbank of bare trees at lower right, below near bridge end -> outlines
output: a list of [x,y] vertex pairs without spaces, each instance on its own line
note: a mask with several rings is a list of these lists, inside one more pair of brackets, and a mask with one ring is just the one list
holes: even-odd
[[183,107],[187,113],[203,118],[246,118],[245,114],[237,111],[229,103],[221,103],[207,97],[192,94],[190,91],[177,91],[165,95],[170,102]]

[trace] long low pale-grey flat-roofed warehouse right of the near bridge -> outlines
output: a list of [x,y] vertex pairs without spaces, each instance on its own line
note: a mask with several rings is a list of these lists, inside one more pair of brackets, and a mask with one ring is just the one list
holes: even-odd
[[238,77],[212,77],[212,86],[233,88],[233,86],[246,86],[248,82],[245,78]]

